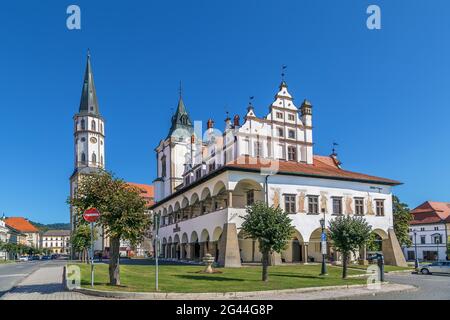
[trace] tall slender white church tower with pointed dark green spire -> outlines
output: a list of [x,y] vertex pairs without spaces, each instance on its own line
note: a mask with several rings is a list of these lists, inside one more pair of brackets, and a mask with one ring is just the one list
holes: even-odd
[[[97,93],[92,73],[91,56],[88,52],[86,71],[79,111],[74,120],[74,171],[70,177],[70,197],[77,192],[78,183],[84,174],[105,166],[105,124],[99,112]],[[73,209],[70,209],[72,230],[76,226]],[[103,250],[103,237],[95,243],[95,250]]]

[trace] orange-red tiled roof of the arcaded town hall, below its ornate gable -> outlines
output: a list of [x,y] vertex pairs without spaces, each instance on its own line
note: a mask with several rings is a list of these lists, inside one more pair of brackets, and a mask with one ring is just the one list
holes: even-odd
[[380,183],[387,185],[399,185],[401,182],[371,176],[363,173],[352,172],[341,169],[332,157],[314,156],[313,164],[299,163],[294,161],[263,159],[261,162],[257,158],[240,157],[237,160],[226,164],[230,168],[240,168],[249,170],[276,169],[277,173],[296,174],[316,178],[340,179],[350,181],[362,181],[370,183]]

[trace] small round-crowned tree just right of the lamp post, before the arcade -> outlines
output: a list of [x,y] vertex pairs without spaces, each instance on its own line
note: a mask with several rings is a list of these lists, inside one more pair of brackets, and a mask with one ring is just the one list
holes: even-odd
[[350,253],[356,254],[370,237],[371,226],[363,217],[337,217],[330,222],[330,239],[337,251],[342,253],[342,278],[347,278]]

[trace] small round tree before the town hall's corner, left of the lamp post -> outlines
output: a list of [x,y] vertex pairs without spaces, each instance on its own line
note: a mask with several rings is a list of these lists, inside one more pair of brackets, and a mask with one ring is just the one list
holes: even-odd
[[294,228],[288,214],[279,207],[269,207],[256,202],[247,208],[247,215],[241,217],[242,230],[246,237],[259,241],[262,254],[262,280],[268,281],[269,257],[272,253],[281,253],[286,249]]

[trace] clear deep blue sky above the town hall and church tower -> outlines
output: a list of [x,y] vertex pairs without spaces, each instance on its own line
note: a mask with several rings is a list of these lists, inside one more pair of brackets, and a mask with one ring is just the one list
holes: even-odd
[[[66,8],[81,8],[81,30]],[[366,28],[377,4],[382,29]],[[288,66],[314,105],[316,154],[400,180],[414,207],[450,201],[446,0],[8,1],[0,11],[0,213],[68,222],[72,117],[91,49],[106,165],[151,183],[179,81],[193,120],[223,128],[255,96],[265,115]]]

